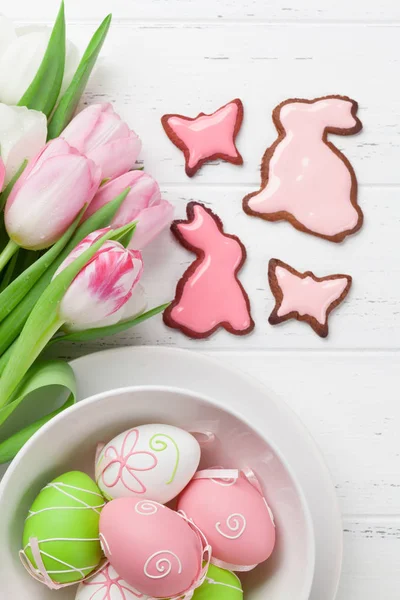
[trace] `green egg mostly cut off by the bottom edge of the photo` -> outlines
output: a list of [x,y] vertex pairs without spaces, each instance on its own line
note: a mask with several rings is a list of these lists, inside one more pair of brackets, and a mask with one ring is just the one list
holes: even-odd
[[210,565],[207,578],[195,591],[193,600],[243,600],[242,584],[234,573]]

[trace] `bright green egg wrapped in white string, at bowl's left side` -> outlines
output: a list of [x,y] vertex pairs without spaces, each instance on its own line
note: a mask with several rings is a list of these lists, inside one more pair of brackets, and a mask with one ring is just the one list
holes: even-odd
[[85,473],[72,471],[46,485],[25,521],[25,560],[42,576],[32,546],[37,540],[48,577],[57,583],[81,581],[103,558],[99,539],[104,498]]

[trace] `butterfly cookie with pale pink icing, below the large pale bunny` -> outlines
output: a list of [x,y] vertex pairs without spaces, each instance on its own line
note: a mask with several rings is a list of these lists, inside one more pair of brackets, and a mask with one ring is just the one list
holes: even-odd
[[321,337],[328,335],[328,317],[343,302],[352,283],[350,275],[299,273],[276,258],[269,261],[268,279],[276,300],[269,317],[271,325],[297,319],[308,323]]

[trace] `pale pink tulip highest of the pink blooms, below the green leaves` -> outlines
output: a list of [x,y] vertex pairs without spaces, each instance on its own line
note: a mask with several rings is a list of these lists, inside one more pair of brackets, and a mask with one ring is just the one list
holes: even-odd
[[101,168],[103,179],[118,177],[132,169],[142,147],[139,137],[111,104],[93,104],[83,110],[62,137]]

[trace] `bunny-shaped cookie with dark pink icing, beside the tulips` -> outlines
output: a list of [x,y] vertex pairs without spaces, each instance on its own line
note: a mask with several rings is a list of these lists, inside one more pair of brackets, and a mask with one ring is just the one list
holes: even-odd
[[187,205],[187,221],[174,221],[176,239],[197,259],[178,282],[176,297],[164,312],[168,327],[206,338],[219,327],[235,335],[254,329],[249,298],[238,279],[246,249],[224,233],[220,218],[198,202]]

